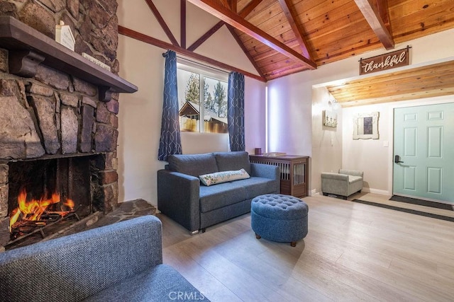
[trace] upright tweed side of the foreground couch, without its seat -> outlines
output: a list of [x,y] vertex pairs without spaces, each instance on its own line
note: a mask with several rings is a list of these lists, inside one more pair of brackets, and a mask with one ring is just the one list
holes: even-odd
[[162,264],[161,221],[142,216],[0,253],[1,301],[81,301]]

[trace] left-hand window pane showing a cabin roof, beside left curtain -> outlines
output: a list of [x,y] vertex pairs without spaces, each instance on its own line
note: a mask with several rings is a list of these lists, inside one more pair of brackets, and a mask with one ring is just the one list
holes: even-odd
[[186,132],[200,131],[200,75],[177,69],[179,128]]

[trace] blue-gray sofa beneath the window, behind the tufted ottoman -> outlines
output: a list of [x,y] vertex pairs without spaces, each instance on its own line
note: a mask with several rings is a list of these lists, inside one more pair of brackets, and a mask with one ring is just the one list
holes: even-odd
[[[279,193],[279,168],[250,163],[245,151],[172,155],[157,171],[157,209],[192,234],[250,212],[262,194]],[[244,169],[250,178],[202,185],[199,176]]]

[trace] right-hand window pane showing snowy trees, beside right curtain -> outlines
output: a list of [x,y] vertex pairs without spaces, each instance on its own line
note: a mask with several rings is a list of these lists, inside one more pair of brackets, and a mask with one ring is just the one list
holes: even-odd
[[227,133],[227,82],[204,77],[205,132]]

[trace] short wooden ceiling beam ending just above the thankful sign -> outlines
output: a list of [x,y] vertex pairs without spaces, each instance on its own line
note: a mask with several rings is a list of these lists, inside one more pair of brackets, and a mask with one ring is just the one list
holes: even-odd
[[394,38],[391,35],[389,26],[387,27],[385,23],[388,19],[387,9],[385,9],[387,8],[386,1],[355,0],[355,4],[360,8],[362,15],[367,23],[369,23],[375,35],[380,39],[384,48],[392,50],[394,49]]

